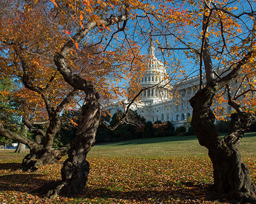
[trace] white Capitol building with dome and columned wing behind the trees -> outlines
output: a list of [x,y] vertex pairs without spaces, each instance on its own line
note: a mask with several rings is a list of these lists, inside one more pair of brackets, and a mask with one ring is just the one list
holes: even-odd
[[[155,57],[155,47],[152,42],[147,48],[147,53],[145,73],[137,82],[142,88],[148,89],[142,92],[140,101],[133,104],[131,109],[137,111],[146,121],[154,123],[157,120],[162,122],[168,120],[176,127],[181,126],[192,115],[193,109],[188,100],[199,89],[199,75],[186,78],[171,86],[163,63]],[[231,107],[227,103],[223,103],[222,106],[225,106],[228,113],[231,112]],[[123,111],[119,103],[103,108],[112,116],[117,110]]]

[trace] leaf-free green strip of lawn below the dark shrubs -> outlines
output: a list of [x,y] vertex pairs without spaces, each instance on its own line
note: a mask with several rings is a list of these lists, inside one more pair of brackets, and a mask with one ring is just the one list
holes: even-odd
[[[246,133],[240,144],[242,155],[256,155],[256,133]],[[198,143],[196,136],[162,137],[128,140],[95,145],[89,153],[94,156],[172,157],[207,155],[207,149]]]

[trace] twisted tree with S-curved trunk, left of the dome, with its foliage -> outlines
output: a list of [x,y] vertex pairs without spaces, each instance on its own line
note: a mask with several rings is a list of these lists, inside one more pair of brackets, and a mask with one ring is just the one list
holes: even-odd
[[[126,37],[125,29],[127,20],[129,18],[135,18],[133,13],[134,9],[148,11],[152,8],[149,7],[148,4],[143,4],[139,1],[131,2],[131,5],[128,5],[125,2],[114,2],[113,5],[113,2],[111,1],[108,3],[101,3],[101,1],[85,1],[78,5],[73,4],[72,1],[69,2],[68,5],[66,2],[64,3],[60,1],[58,3],[53,1],[53,3],[57,7],[56,9],[58,9],[58,12],[63,16],[67,13],[73,13],[72,16],[78,17],[75,22],[77,23],[78,21],[81,28],[74,36],[72,36],[72,39],[68,40],[61,49],[55,53],[54,62],[65,81],[75,89],[83,91],[86,94],[86,97],[82,105],[81,122],[78,126],[76,137],[71,142],[68,151],[69,157],[63,163],[61,169],[62,181],[51,185],[51,190],[49,190],[49,185],[47,185],[48,188],[45,186],[39,190],[46,190],[47,196],[51,198],[56,197],[59,193],[69,196],[83,192],[90,169],[90,165],[86,158],[88,152],[94,145],[95,134],[102,111],[100,97],[103,95],[105,96],[104,98],[117,99],[116,95],[118,94],[127,96],[127,91],[125,92],[123,88],[119,88],[117,84],[120,82],[120,79],[125,79],[128,82],[131,82],[129,83],[129,87],[131,87],[132,83],[135,82],[135,80],[131,79],[138,78],[143,67],[141,61],[138,60],[140,59],[140,56],[138,55],[139,47],[136,43],[129,41]],[[120,26],[120,23],[122,23],[122,26]],[[115,30],[115,32],[112,32],[110,27]],[[117,34],[119,33],[124,34],[124,40],[121,41],[121,43],[118,40]],[[103,73],[107,74],[106,76],[108,77],[108,80],[112,83],[106,84],[106,86],[104,83],[98,83],[103,80],[97,82],[97,75],[91,73],[88,75],[88,78],[84,78],[82,74],[77,74],[73,69],[74,67],[69,66],[69,55],[79,49],[79,44],[83,41],[85,41],[83,43],[88,43],[90,38],[86,37],[90,35],[100,36],[99,39],[102,39],[102,36],[104,39],[104,36],[106,36],[106,41],[102,42],[102,40],[100,40],[98,42],[98,44],[102,45],[105,43],[104,47],[99,47],[101,49],[99,52],[102,52],[104,55],[102,58],[97,58],[97,61],[100,63],[108,62],[104,64],[106,67],[104,70],[107,72]],[[114,44],[110,44],[113,38],[115,38],[116,41]],[[124,43],[126,46],[124,46]],[[110,51],[108,50],[109,45],[112,49]],[[118,48],[114,50],[114,46]],[[122,64],[119,62],[122,62]],[[85,71],[87,71],[87,69],[85,69]],[[134,91],[133,97],[129,97],[132,99],[129,104],[125,104],[124,114],[120,117],[120,120],[116,125],[124,122],[125,115],[129,112],[131,104],[142,91],[143,89],[139,92]]]

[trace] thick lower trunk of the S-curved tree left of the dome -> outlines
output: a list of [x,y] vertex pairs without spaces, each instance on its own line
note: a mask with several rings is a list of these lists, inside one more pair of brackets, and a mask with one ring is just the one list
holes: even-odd
[[88,93],[82,106],[82,120],[76,138],[71,142],[69,157],[61,169],[62,181],[51,185],[46,184],[35,192],[46,192],[46,196],[50,198],[55,198],[58,194],[71,196],[84,193],[90,170],[86,157],[95,143],[101,109],[98,94]]

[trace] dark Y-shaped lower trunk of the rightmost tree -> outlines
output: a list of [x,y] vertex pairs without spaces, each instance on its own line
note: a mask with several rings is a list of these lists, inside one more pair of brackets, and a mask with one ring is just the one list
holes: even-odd
[[242,162],[238,150],[246,128],[255,117],[246,112],[234,113],[231,116],[229,134],[221,139],[214,124],[215,115],[210,109],[216,92],[215,85],[208,85],[189,100],[193,107],[191,125],[199,143],[208,149],[214,168],[213,198],[256,202],[255,185],[250,179],[249,168]]

